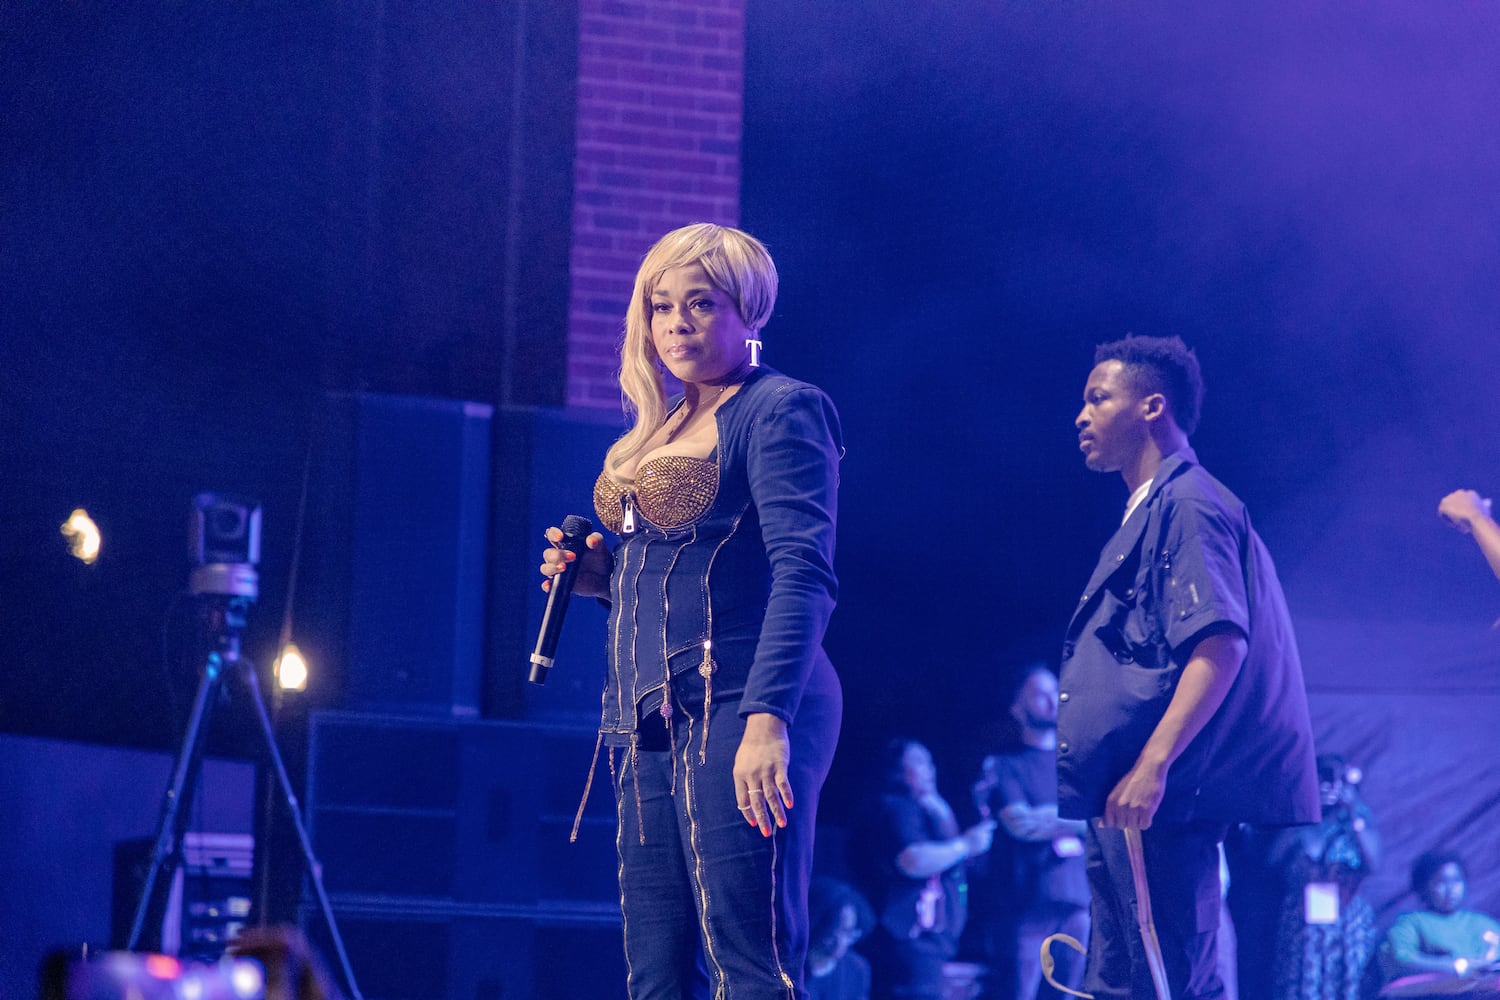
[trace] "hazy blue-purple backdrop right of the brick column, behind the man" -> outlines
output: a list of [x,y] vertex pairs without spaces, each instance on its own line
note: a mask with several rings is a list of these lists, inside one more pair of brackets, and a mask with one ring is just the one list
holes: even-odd
[[[1076,448],[1092,345],[1176,333],[1198,456],[1316,633],[1320,748],[1366,757],[1382,904],[1436,840],[1492,873],[1500,844],[1454,823],[1494,826],[1500,780],[1455,720],[1492,721],[1500,585],[1436,507],[1500,492],[1500,13],[759,0],[748,37],[766,352],[849,448],[830,813],[897,732],[968,802],[1002,679],[1054,661],[1125,501]],[[1376,673],[1420,697],[1352,727]],[[1492,876],[1476,900],[1500,909]]]

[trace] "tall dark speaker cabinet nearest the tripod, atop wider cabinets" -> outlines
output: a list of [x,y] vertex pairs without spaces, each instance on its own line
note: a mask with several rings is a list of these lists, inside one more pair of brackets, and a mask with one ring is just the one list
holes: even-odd
[[297,633],[298,645],[314,636],[350,708],[478,714],[490,415],[447,399],[328,396]]

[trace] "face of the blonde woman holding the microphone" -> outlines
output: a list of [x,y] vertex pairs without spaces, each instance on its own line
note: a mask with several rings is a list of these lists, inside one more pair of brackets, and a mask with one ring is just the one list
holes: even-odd
[[651,343],[682,382],[718,382],[750,357],[754,334],[735,301],[714,288],[702,267],[674,267],[651,289]]

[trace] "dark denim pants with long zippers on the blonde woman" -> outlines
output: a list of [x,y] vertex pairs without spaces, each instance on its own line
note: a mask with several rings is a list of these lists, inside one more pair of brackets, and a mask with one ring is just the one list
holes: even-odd
[[738,700],[712,703],[705,742],[693,681],[674,681],[686,690],[674,697],[672,726],[645,720],[615,768],[630,997],[804,1000],[807,882],[838,735],[837,688],[804,696],[789,730],[794,808],[786,829],[762,837],[735,801]]

